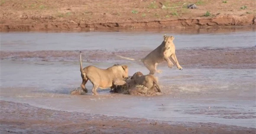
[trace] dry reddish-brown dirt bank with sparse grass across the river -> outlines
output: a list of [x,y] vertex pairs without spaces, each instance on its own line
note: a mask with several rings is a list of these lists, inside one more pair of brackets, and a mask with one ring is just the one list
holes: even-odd
[[255,0],[0,0],[0,31],[255,26],[255,7]]

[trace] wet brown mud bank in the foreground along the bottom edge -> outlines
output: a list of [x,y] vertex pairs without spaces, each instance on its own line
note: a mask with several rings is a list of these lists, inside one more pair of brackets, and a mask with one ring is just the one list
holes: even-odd
[[[1,134],[253,134],[255,128],[215,123],[174,123],[42,109],[0,101]],[[11,120],[10,120],[11,118]]]

